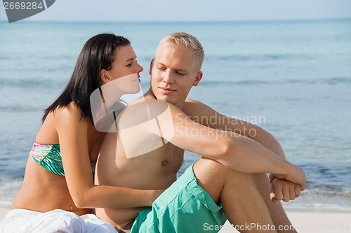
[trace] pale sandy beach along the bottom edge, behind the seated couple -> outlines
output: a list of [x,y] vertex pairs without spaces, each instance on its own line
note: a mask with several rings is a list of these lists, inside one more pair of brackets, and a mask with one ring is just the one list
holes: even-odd
[[[9,209],[0,208],[0,220],[4,219]],[[351,232],[351,213],[308,213],[308,212],[288,212],[287,215],[291,220],[291,223],[298,232],[301,233],[346,233]],[[204,232],[210,227],[204,225]],[[245,227],[245,226],[241,226]],[[258,226],[252,223],[248,227],[261,227],[265,230],[270,226]],[[266,227],[266,228],[265,228]],[[238,232],[230,225],[226,223],[222,226],[220,233]]]

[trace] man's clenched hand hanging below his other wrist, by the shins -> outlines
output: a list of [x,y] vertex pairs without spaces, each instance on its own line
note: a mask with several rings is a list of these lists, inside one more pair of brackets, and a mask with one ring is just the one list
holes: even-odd
[[272,184],[270,188],[270,199],[272,199],[274,203],[282,200],[284,202],[289,202],[299,197],[302,191],[301,186],[297,183],[277,178],[273,174],[270,174],[270,183]]

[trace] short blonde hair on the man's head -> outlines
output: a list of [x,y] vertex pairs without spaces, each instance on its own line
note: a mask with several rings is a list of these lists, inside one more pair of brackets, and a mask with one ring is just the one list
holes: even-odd
[[194,52],[194,69],[197,72],[201,70],[202,62],[204,62],[205,52],[200,41],[195,36],[187,34],[186,32],[175,32],[169,34],[168,36],[161,39],[161,41],[159,41],[159,45],[157,46],[155,52],[155,57],[157,57],[157,54],[159,53],[162,45],[166,43],[181,48],[190,48],[192,52]]

